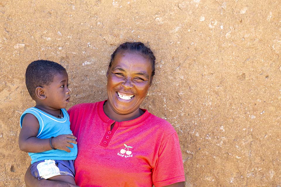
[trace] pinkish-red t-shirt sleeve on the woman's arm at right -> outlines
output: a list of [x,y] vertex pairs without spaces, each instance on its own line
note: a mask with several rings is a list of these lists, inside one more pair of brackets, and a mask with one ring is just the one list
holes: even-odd
[[162,142],[158,152],[158,160],[152,172],[155,187],[185,181],[181,148],[176,132]]

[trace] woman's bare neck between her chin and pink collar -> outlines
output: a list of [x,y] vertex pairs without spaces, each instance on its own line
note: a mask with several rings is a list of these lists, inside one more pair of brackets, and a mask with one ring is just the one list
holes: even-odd
[[103,105],[103,111],[105,115],[107,115],[107,117],[117,122],[133,120],[140,117],[144,113],[143,110],[140,110],[140,108],[138,108],[137,110],[129,114],[118,114],[109,106],[107,101]]

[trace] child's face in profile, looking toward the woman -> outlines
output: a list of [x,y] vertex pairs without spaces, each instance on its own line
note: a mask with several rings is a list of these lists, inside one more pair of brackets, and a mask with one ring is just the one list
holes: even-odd
[[68,75],[64,71],[54,76],[53,82],[44,86],[46,98],[44,103],[53,109],[66,108],[70,99],[70,90],[68,89]]

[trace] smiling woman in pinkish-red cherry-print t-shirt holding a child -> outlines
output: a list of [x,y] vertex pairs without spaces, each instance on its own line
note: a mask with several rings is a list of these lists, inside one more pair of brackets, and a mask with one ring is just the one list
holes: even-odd
[[[77,137],[78,186],[184,186],[176,131],[140,109],[155,74],[155,57],[141,42],[121,44],[107,70],[108,99],[68,110]],[[26,186],[72,186],[25,175]]]

